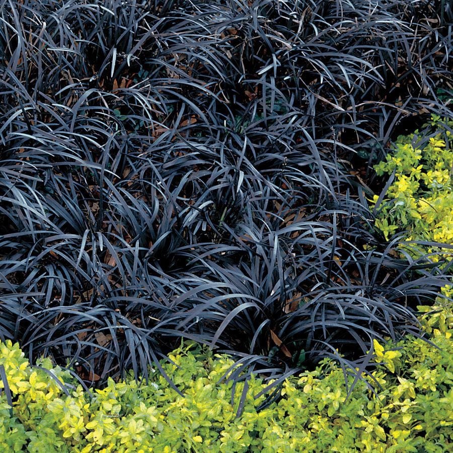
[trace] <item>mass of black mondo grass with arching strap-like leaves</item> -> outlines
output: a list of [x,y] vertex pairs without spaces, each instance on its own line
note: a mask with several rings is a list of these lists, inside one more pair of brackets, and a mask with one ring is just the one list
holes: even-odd
[[452,116],[452,14],[0,0],[0,339],[96,385],[181,339],[269,390],[326,356],[366,372],[448,281],[375,231],[363,179]]

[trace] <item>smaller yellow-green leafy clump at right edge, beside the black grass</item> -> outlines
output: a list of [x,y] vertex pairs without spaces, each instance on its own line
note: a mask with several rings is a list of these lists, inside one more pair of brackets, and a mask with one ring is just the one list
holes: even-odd
[[[448,130],[453,120],[433,115],[428,126],[435,134],[426,143],[421,145],[417,131],[401,135],[393,153],[374,166],[379,176],[395,172],[375,224],[386,239],[405,231],[409,241],[453,244],[453,134]],[[374,196],[374,205],[378,198]],[[434,249],[419,252],[424,255]],[[443,252],[450,258],[451,251]]]

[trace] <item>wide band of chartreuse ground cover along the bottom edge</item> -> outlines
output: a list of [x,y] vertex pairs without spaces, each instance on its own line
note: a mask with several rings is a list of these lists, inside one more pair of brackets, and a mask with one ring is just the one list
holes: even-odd
[[130,375],[89,394],[50,359],[31,366],[18,344],[6,341],[0,344],[6,377],[0,450],[451,451],[453,313],[446,302],[439,296],[436,312],[420,318],[431,344],[415,337],[395,344],[375,340],[375,367],[349,398],[341,367],[326,359],[287,379],[282,398],[260,411],[268,383],[252,375],[239,417],[244,384],[237,384],[232,405],[233,384],[221,380],[234,361],[193,343],[162,362],[182,397],[154,371],[147,384]]

